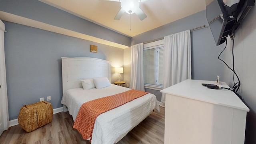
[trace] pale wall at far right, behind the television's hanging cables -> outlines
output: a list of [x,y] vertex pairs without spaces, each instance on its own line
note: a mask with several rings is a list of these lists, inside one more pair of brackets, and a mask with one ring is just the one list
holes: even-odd
[[[250,112],[246,120],[246,144],[256,144],[256,8],[253,7],[236,30],[234,38],[234,68],[241,82],[239,94]],[[232,68],[232,41],[228,38],[223,59]],[[236,79],[235,79],[236,80]],[[232,87],[233,72],[224,67],[224,81]],[[236,82],[238,82],[236,80]]]

